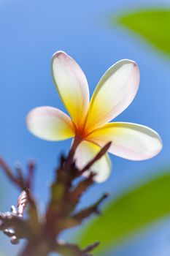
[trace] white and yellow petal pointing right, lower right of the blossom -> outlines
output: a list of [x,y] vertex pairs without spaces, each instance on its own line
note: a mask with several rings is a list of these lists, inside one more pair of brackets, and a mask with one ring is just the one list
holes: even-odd
[[157,132],[139,124],[109,123],[93,132],[88,140],[104,146],[112,141],[109,152],[131,160],[154,157],[161,151],[162,141]]

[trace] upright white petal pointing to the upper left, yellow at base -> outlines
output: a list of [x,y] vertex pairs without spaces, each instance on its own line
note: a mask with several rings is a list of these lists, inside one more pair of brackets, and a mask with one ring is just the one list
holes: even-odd
[[82,125],[88,112],[89,91],[84,72],[62,51],[53,55],[52,71],[56,89],[74,123]]

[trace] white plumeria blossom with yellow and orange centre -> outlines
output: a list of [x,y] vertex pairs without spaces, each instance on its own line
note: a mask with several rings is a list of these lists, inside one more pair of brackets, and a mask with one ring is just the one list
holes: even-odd
[[[157,132],[140,124],[109,122],[128,107],[139,88],[139,67],[134,61],[118,61],[104,73],[89,101],[88,82],[74,59],[63,51],[53,55],[55,87],[69,115],[52,107],[28,113],[28,129],[44,140],[77,141],[75,159],[82,168],[109,141],[109,153],[131,160],[150,159],[162,148]],[[111,170],[106,153],[91,170],[96,181],[105,181]]]

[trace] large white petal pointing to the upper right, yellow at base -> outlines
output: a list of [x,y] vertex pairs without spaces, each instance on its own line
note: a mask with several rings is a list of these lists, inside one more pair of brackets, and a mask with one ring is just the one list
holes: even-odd
[[107,124],[131,104],[139,88],[139,68],[134,61],[122,60],[110,67],[90,100],[86,129]]

